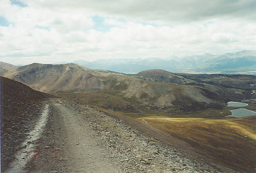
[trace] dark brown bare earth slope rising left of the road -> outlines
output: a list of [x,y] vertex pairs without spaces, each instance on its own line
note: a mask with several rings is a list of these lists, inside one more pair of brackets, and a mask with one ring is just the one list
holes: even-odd
[[[14,159],[25,133],[38,117],[41,101],[50,96],[5,77],[1,82],[1,171]],[[35,114],[36,113],[36,114]],[[31,121],[29,123],[29,121]]]

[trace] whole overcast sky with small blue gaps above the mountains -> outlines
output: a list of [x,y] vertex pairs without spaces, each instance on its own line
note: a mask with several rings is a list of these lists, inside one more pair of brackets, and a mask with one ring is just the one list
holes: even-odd
[[255,50],[255,11],[255,0],[0,0],[0,61]]

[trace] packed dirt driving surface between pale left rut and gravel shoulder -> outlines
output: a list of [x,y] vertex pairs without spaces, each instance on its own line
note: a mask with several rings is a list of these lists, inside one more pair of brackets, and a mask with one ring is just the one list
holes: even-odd
[[88,124],[75,110],[53,99],[45,133],[29,153],[24,172],[120,172],[104,158],[106,151],[97,145]]

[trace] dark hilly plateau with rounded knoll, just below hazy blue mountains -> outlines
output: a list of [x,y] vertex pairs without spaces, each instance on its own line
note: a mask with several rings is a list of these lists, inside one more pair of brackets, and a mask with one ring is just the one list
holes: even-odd
[[186,74],[171,73],[165,70],[146,70],[134,74],[142,80],[186,84],[194,86],[206,93],[206,97],[214,100],[253,99],[256,90],[256,76],[238,74]]

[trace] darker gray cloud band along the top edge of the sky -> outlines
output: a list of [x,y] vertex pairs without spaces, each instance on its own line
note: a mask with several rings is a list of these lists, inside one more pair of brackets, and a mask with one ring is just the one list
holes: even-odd
[[255,0],[24,0],[45,9],[88,9],[98,14],[146,21],[188,22],[209,18],[247,18],[255,21]]

